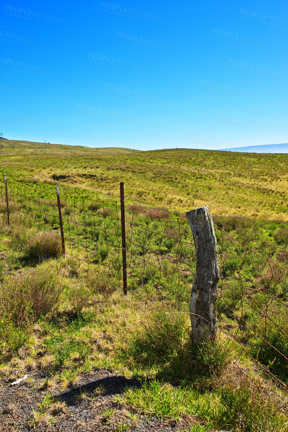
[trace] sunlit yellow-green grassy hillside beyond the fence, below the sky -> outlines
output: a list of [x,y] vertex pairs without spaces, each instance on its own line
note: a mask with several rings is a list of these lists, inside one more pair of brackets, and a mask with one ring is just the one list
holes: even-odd
[[[0,171],[8,178],[51,181],[62,176],[66,187],[80,186],[171,209],[209,204],[212,213],[288,220],[288,155],[165,149],[89,149],[6,141]],[[40,148],[42,146],[42,149]],[[34,153],[34,156],[31,155]],[[58,177],[57,177],[58,176]],[[64,178],[65,176],[65,178]]]

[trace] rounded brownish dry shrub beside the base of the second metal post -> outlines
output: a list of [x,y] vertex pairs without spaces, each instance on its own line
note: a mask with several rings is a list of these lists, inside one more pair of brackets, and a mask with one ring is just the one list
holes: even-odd
[[57,258],[62,254],[60,235],[53,231],[38,232],[27,241],[25,252],[32,260]]

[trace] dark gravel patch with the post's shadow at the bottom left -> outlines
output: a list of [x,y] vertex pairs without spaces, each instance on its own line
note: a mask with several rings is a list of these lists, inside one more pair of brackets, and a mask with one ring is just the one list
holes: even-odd
[[[28,375],[31,382],[24,380],[15,386],[2,383],[0,388],[0,431],[182,431],[190,429],[196,418],[184,415],[178,422],[174,419],[159,419],[146,416],[137,422],[127,416],[127,410],[115,400],[123,394],[123,388],[135,388],[141,385],[137,379],[128,379],[107,369],[97,369],[90,373],[81,373],[77,382],[70,383],[65,391],[49,388],[56,399],[46,416],[38,424],[31,424],[34,411],[38,412],[38,403],[43,400],[47,388],[41,382],[49,377],[44,372],[32,372]],[[30,381],[30,380],[29,380]],[[101,392],[97,391],[101,386]],[[91,400],[91,396],[95,397]],[[101,411],[114,410],[110,419]],[[52,418],[53,416],[53,418]],[[52,418],[53,422],[49,422]],[[49,422],[49,423],[48,423]],[[125,428],[126,429],[126,428]]]

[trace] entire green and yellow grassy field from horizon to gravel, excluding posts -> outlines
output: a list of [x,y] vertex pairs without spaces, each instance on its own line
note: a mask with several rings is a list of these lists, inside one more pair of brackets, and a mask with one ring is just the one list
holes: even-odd
[[[60,392],[106,368],[140,380],[115,396],[121,423],[116,409],[99,411],[108,429],[133,430],[145,415],[190,416],[194,432],[288,431],[287,156],[56,145],[45,155],[39,143],[5,141],[4,150],[9,145],[19,154],[1,156],[0,172],[22,197],[10,200],[9,226],[0,197],[0,374],[5,386],[28,372],[32,391],[42,391],[27,427],[57,430]],[[206,204],[222,276],[218,338],[195,346],[188,312],[196,255],[185,212]],[[37,371],[46,378],[34,379]],[[103,392],[75,398],[92,403]]]

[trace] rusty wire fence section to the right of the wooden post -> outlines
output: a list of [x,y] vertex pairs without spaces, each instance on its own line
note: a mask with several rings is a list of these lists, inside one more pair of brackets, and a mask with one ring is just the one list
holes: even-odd
[[[241,348],[241,354],[288,391],[288,270],[286,251],[279,262],[253,251],[216,228],[218,327]],[[283,255],[281,257],[281,254]]]

